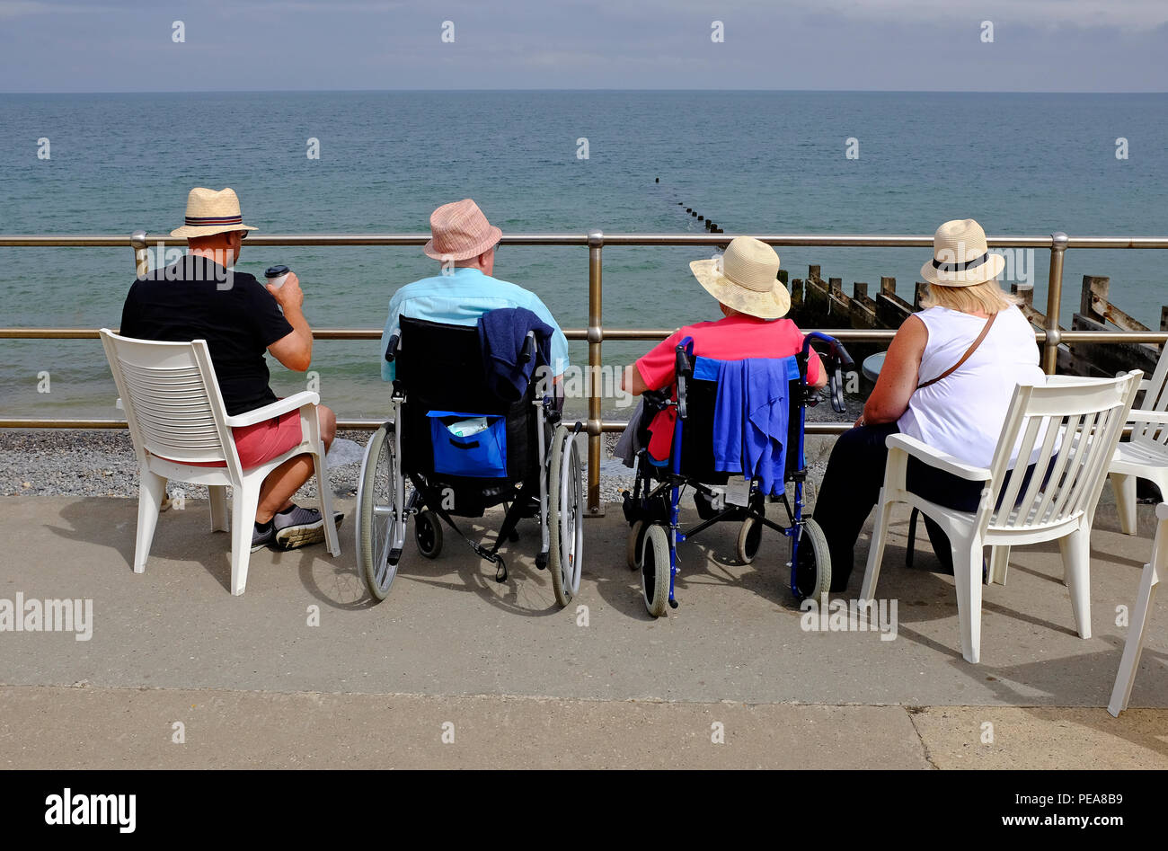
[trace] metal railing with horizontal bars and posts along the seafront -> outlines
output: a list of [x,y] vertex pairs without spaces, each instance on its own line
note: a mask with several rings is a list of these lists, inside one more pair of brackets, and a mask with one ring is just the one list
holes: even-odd
[[[590,514],[602,514],[600,505],[600,455],[602,435],[624,429],[625,422],[603,420],[600,408],[602,347],[605,340],[660,340],[673,333],[666,328],[605,328],[603,323],[603,250],[605,245],[712,245],[725,247],[735,234],[610,234],[600,230],[588,234],[505,234],[506,245],[588,245],[589,249],[589,324],[586,328],[568,328],[564,334],[570,340],[589,344],[589,367],[592,383],[588,396],[588,504]],[[249,245],[423,245],[430,234],[269,234],[252,231]],[[770,234],[756,237],[771,245],[820,247],[820,248],[932,248],[932,236],[885,235],[885,234]],[[134,251],[134,264],[139,275],[148,269],[152,247],[169,248],[185,245],[186,240],[169,235],[148,235],[137,230],[130,235],[55,235],[14,234],[0,235],[0,248],[123,248],[127,244]],[[1072,248],[1094,249],[1166,249],[1168,237],[1161,236],[1068,236],[1056,231],[1050,236],[988,236],[990,248],[1041,248],[1050,250],[1050,271],[1047,289],[1047,326],[1035,331],[1036,343],[1042,345],[1042,366],[1050,374],[1055,372],[1059,344],[1070,343],[1168,343],[1164,332],[1108,332],[1063,331],[1058,327],[1058,314],[1063,292],[1063,255]],[[826,330],[841,340],[875,341],[890,340],[892,330],[861,331],[855,328]],[[0,339],[97,339],[97,328],[0,328]],[[320,328],[313,332],[321,340],[371,340],[380,339],[380,328]],[[338,420],[343,429],[376,428],[380,421]],[[77,428],[112,429],[125,428],[124,420],[0,420],[0,428]],[[842,434],[850,423],[812,422],[807,430],[813,434]]]

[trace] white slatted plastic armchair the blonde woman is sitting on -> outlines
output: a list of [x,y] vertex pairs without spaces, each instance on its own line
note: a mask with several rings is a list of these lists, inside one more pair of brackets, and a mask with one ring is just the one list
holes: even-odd
[[[1011,546],[1057,539],[1075,625],[1083,638],[1090,638],[1091,521],[1141,375],[1135,371],[1118,379],[1059,376],[1045,387],[1016,387],[988,469],[965,464],[908,435],[889,435],[862,604],[870,606],[875,599],[891,507],[906,503],[936,520],[953,547],[961,655],[967,662],[976,663],[981,656],[981,556],[987,546],[993,548],[990,580],[1004,583]],[[1024,493],[1020,491],[1026,476],[1007,478],[1015,447],[1020,466],[1037,454]],[[962,479],[985,482],[978,510],[945,508],[909,491],[910,456]],[[1001,510],[995,508],[999,501]]]

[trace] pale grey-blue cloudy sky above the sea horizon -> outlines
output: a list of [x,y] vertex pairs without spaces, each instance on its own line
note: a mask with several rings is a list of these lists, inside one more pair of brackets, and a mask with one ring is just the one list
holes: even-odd
[[0,91],[1163,92],[1166,43],[1168,0],[0,0]]

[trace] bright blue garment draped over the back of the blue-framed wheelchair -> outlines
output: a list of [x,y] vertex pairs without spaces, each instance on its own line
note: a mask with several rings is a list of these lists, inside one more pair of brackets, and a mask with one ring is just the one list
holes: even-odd
[[758,479],[767,496],[783,493],[791,416],[787,381],[794,358],[716,362],[715,469]]

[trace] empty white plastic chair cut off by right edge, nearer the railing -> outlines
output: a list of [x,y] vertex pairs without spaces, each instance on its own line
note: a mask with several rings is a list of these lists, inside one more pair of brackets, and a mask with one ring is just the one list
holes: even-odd
[[1143,403],[1128,417],[1133,423],[1132,438],[1119,444],[1108,472],[1115,489],[1115,510],[1119,527],[1135,534],[1135,480],[1150,479],[1160,489],[1161,499],[1168,499],[1168,347],[1160,355],[1156,371],[1143,381]]

